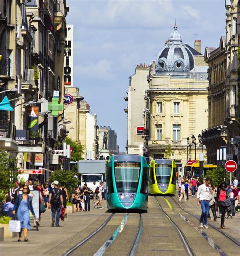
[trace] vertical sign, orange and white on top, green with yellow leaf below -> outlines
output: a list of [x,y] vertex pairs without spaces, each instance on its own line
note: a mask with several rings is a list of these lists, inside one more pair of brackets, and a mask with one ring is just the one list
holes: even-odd
[[28,106],[27,107],[27,129],[29,130],[29,138],[38,138],[38,116],[39,107],[38,106]]

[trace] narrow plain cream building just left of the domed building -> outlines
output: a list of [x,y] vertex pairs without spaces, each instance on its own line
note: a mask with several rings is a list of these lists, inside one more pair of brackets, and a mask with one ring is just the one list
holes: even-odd
[[127,113],[127,153],[143,155],[144,133],[138,132],[137,127],[144,127],[144,118],[148,113],[145,109],[144,93],[148,89],[147,77],[149,66],[136,65],[135,74],[129,77],[129,87],[125,97],[128,106],[124,109]]

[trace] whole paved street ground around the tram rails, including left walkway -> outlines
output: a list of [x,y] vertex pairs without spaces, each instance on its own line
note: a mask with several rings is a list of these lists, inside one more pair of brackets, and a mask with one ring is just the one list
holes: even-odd
[[[180,236],[168,220],[163,211],[159,209],[157,201],[171,220],[183,232],[190,248],[195,255],[203,255],[208,251],[208,255],[236,255],[239,245],[213,228],[208,230],[198,229],[198,220],[189,213],[199,216],[199,208],[196,206],[196,198],[190,197],[188,203],[181,203],[183,209],[172,197],[149,197],[148,212],[142,214],[143,229],[140,241],[137,246],[136,255],[187,255]],[[75,212],[68,214],[68,218],[61,222],[61,227],[51,227],[51,214],[47,210],[41,219],[39,231],[34,229],[29,233],[29,242],[17,242],[16,237],[5,239],[0,243],[2,256],[24,254],[27,251],[34,252],[34,255],[63,255],[69,248],[89,236],[99,226],[103,224],[111,213],[106,211],[106,201],[103,203],[104,209],[91,209],[90,212]],[[96,235],[90,238],[70,255],[94,255],[98,249],[113,235],[120,225],[126,213],[115,213],[107,225]],[[138,213],[129,213],[126,226],[116,237],[110,247],[107,248],[105,255],[127,255],[138,230]],[[184,220],[185,217],[185,220]],[[239,240],[239,221],[240,214],[236,214],[233,220],[225,222],[226,229],[221,230],[236,241]],[[220,227],[220,219],[208,222],[210,225]],[[202,232],[203,234],[201,234]],[[210,245],[211,244],[211,245]],[[215,248],[214,248],[215,247]],[[217,252],[219,251],[219,253]]]

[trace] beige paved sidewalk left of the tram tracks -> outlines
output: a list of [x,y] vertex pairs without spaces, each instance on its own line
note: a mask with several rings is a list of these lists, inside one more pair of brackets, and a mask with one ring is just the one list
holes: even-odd
[[[36,231],[36,228],[32,228],[29,231],[29,242],[17,242],[18,237],[5,239],[3,242],[0,242],[0,255],[46,254],[49,250],[61,245],[69,238],[72,239],[77,233],[83,231],[101,218],[102,215],[106,214],[106,201],[102,202],[102,206],[104,209],[94,209],[93,201],[91,200],[90,212],[68,213],[64,222],[60,220],[60,227],[51,227],[51,209],[47,209],[41,216],[39,231]],[[62,253],[54,253],[52,255],[62,255]]]

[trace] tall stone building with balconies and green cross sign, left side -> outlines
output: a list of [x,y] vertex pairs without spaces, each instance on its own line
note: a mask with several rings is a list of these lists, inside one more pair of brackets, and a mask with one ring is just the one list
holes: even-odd
[[[59,169],[52,151],[65,136],[58,133],[58,122],[63,116],[69,8],[66,0],[13,0],[1,1],[0,9],[0,97],[13,99],[13,110],[0,114],[5,121],[0,122],[0,147],[17,154],[20,169]],[[31,129],[29,118],[37,120],[38,129]],[[36,164],[39,157],[42,162]]]

